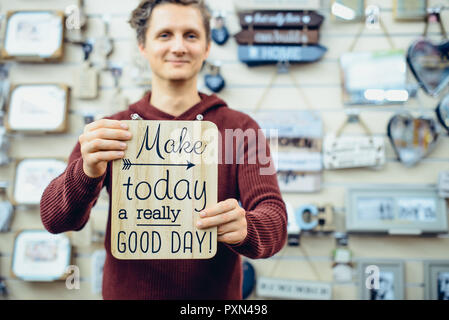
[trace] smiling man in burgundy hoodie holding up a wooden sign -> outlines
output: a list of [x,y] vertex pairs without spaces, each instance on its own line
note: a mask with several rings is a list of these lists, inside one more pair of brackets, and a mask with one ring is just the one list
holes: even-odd
[[[212,121],[221,137],[226,129],[257,132],[249,116],[228,108],[216,95],[197,91],[198,73],[211,46],[209,19],[198,0],[146,0],[133,11],[130,23],[153,72],[152,92],[128,110],[85,127],[67,169],[42,196],[41,218],[49,232],[81,229],[103,186],[111,193],[111,161],[124,156],[126,141],[132,139],[120,120],[132,114],[144,120]],[[223,148],[232,141],[224,141]],[[245,150],[244,160],[249,149],[255,152],[248,142],[233,151],[239,148]],[[275,173],[261,175],[266,164],[228,164],[224,152],[220,156],[218,203],[200,213],[197,226],[217,226],[216,255],[207,260],[115,259],[109,209],[104,299],[241,299],[240,255],[257,259],[278,252],[286,241],[287,214]]]

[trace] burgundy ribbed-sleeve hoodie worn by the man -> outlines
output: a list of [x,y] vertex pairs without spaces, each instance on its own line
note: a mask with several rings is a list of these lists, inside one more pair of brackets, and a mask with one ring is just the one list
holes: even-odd
[[[226,164],[222,152],[225,129],[259,129],[248,115],[230,109],[216,95],[200,93],[201,102],[175,117],[152,106],[151,93],[129,106],[128,110],[109,119],[130,120],[137,113],[144,120],[203,120],[214,122],[222,137],[218,165],[218,201],[229,198],[241,202],[246,210],[248,235],[240,243],[218,242],[211,259],[193,260],[118,260],[111,254],[111,201],[106,229],[106,262],[103,270],[104,299],[242,299],[241,256],[268,258],[284,246],[287,238],[287,214],[276,175],[260,175],[259,160],[243,164]],[[263,138],[263,137],[262,137]],[[264,138],[263,138],[264,139]],[[227,139],[229,140],[229,139]],[[235,139],[233,139],[235,144]],[[247,159],[247,139],[244,148]],[[227,143],[227,142],[226,142]],[[267,145],[267,142],[264,141]],[[267,147],[269,155],[269,148]],[[249,162],[249,163],[248,163]],[[241,162],[240,162],[241,163]],[[111,163],[105,174],[90,178],[83,171],[78,143],[72,151],[66,170],[45,189],[41,203],[41,219],[51,233],[80,230],[89,219],[90,210],[99,193],[106,187],[111,194]]]

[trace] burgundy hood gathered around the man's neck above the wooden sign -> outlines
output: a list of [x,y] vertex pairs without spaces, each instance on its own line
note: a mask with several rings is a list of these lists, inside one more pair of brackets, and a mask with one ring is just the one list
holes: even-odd
[[129,106],[132,113],[137,113],[144,120],[202,120],[211,110],[227,107],[226,103],[215,94],[199,92],[201,101],[175,117],[150,104],[151,91],[136,103]]

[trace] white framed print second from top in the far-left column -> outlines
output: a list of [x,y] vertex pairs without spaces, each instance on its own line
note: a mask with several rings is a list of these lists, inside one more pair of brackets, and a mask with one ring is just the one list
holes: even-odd
[[62,84],[14,86],[6,111],[8,131],[61,133],[67,130],[69,89]]

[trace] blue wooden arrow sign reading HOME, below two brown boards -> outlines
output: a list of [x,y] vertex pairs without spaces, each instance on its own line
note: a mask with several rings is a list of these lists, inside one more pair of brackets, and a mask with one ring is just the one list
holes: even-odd
[[279,61],[290,63],[315,62],[321,59],[327,49],[321,45],[311,46],[238,46],[239,60],[249,66],[274,64]]

